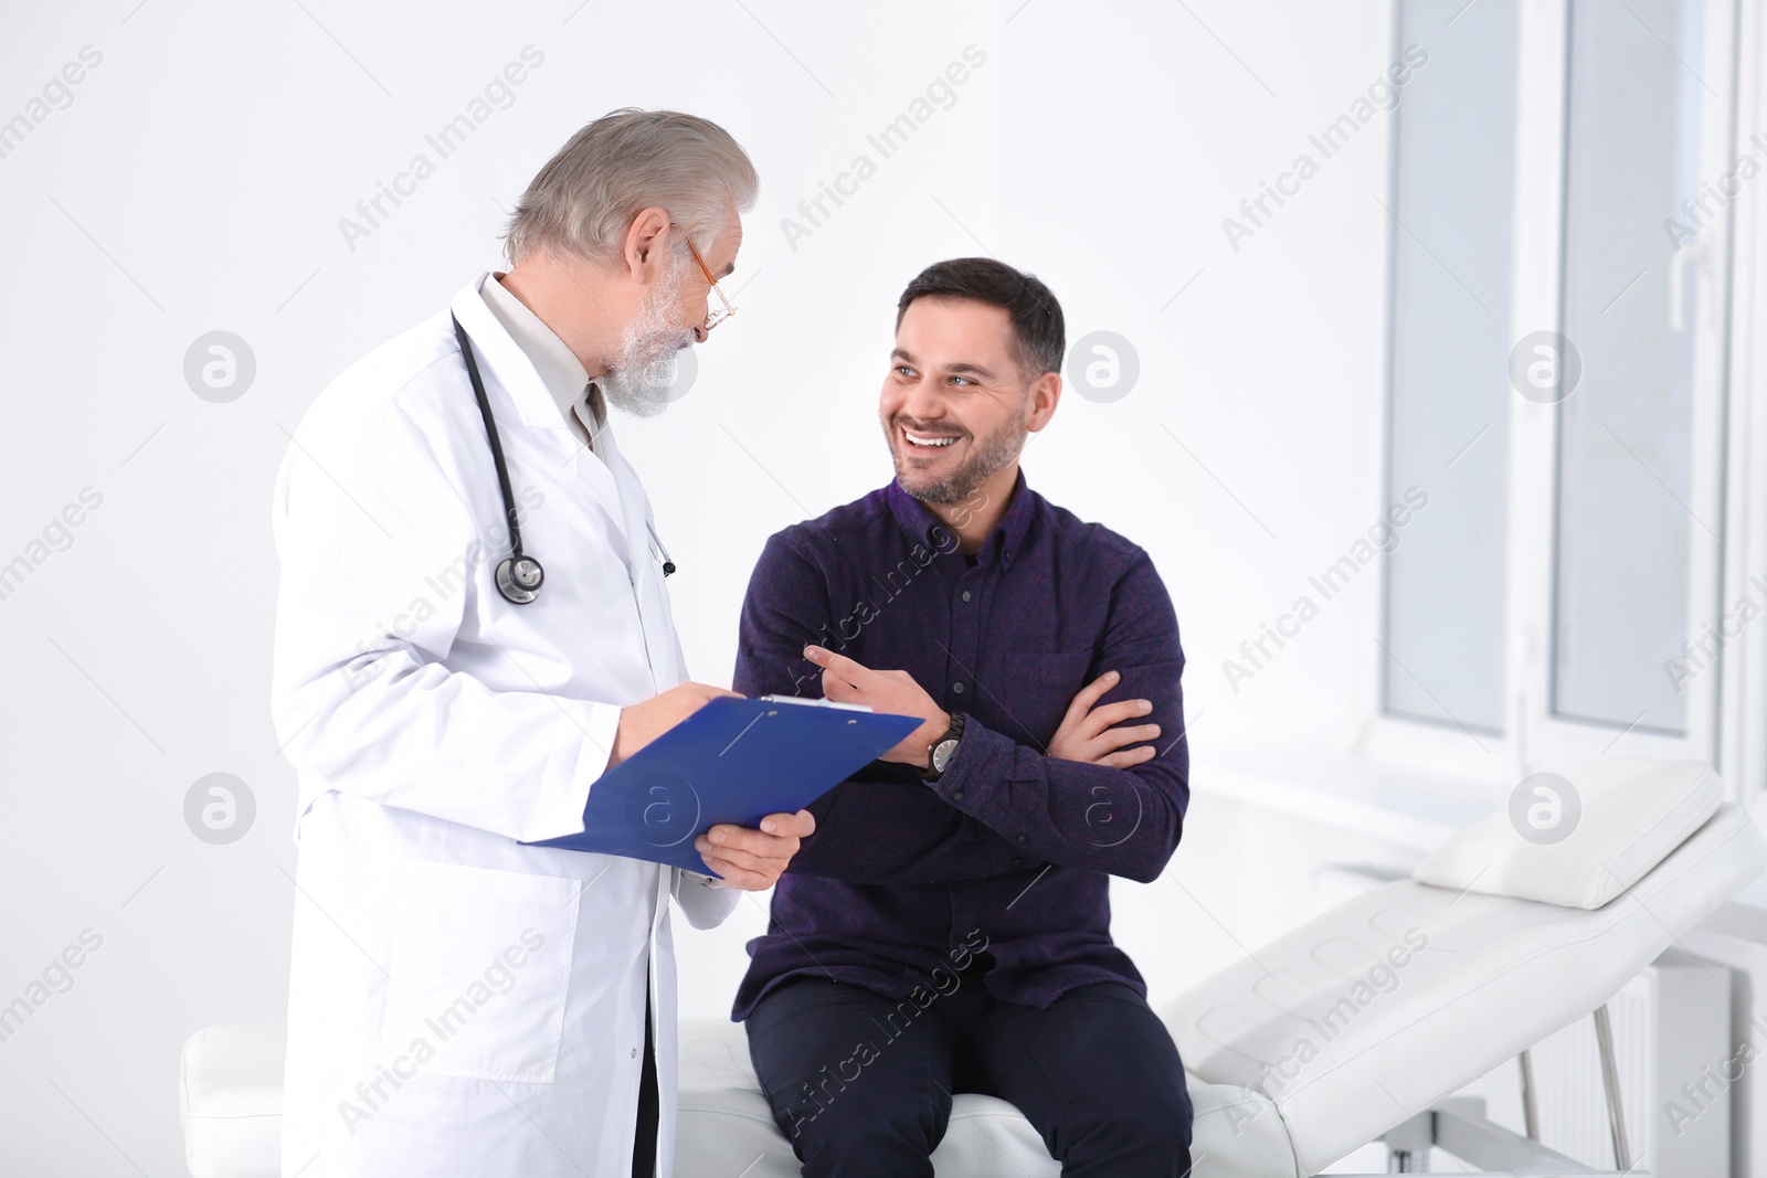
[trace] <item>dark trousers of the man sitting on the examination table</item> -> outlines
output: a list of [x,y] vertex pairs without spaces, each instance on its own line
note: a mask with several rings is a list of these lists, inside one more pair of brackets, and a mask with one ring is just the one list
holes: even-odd
[[931,1178],[954,1091],[1014,1104],[1067,1178],[1187,1174],[1184,1065],[1147,1001],[1099,982],[1046,1010],[1005,1003],[988,964],[924,1008],[815,977],[760,1001],[749,1058],[806,1178]]

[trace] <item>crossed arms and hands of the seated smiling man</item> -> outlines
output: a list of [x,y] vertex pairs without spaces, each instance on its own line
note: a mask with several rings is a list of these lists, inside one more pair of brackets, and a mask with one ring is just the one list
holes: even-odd
[[[790,871],[852,883],[926,883],[997,876],[1043,860],[1143,881],[1159,876],[1182,832],[1189,761],[1177,622],[1145,556],[1117,586],[1122,593],[1134,579],[1141,606],[1119,609],[1113,600],[1099,643],[1108,669],[1074,696],[1048,749],[1018,744],[972,715],[958,758],[933,788],[917,770],[949,714],[906,671],[804,646],[809,625],[785,616],[772,592],[756,592],[786,578],[799,579],[799,590],[804,578],[820,583],[808,562],[769,546],[744,604],[737,691],[793,691],[792,668],[809,659],[822,668],[823,698],[922,719],[884,754],[885,765],[868,766],[809,805],[818,834],[802,842]],[[1161,608],[1149,608],[1150,600]],[[1101,705],[1115,689],[1129,698]]]

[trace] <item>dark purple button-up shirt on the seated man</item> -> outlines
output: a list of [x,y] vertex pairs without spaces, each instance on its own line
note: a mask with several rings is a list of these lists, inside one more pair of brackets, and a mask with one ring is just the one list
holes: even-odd
[[[981,509],[982,505],[974,505]],[[822,696],[806,643],[903,669],[965,715],[945,774],[873,761],[809,811],[732,1017],[793,975],[892,1000],[937,989],[970,950],[995,998],[1048,1007],[1090,982],[1143,998],[1110,940],[1108,876],[1150,881],[1179,846],[1189,749],[1172,599],[1147,553],[1025,486],[975,556],[896,482],[767,540],[742,604],[733,687]],[[1157,756],[1129,770],[1044,754],[1074,692],[1150,699]],[[942,970],[940,970],[942,968]],[[935,975],[935,970],[940,973]]]

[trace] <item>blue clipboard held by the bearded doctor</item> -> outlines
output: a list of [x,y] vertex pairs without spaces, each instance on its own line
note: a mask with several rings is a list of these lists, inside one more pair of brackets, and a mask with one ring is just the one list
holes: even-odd
[[719,696],[603,774],[581,834],[528,846],[716,876],[693,848],[710,827],[758,827],[767,814],[800,811],[921,726],[912,715],[816,705]]

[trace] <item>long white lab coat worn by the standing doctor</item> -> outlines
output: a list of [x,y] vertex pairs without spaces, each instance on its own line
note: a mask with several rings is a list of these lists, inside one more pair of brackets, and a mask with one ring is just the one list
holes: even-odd
[[[502,500],[445,313],[320,394],[276,484],[272,710],[300,782],[283,1173],[631,1173],[647,987],[657,1174],[675,1143],[671,867],[521,846],[573,834],[618,710],[687,678],[647,525],[474,281],[477,350],[546,567],[512,606]],[[647,968],[648,963],[648,968]]]

